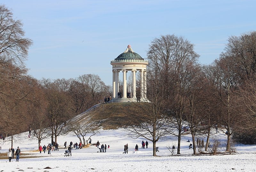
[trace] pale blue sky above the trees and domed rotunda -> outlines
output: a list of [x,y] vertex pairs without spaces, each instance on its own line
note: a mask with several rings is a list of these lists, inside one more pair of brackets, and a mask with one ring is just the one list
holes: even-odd
[[98,74],[112,84],[110,61],[128,44],[141,57],[161,35],[184,36],[202,64],[232,35],[256,30],[255,0],[2,0],[33,40],[29,74],[37,79]]

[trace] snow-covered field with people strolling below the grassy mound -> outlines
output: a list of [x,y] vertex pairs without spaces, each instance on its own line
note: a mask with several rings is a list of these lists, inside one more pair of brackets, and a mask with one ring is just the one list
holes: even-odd
[[[168,137],[157,143],[159,152],[157,157],[153,157],[152,142],[148,142],[148,149],[141,149],[141,142],[145,139],[132,139],[124,130],[100,130],[100,133],[92,137],[92,143],[98,140],[100,145],[110,145],[106,153],[100,153],[96,146],[83,148],[80,150],[72,149],[72,156],[64,157],[64,142],[70,141],[79,143],[76,136],[67,135],[58,137],[59,151],[53,151],[51,154],[37,150],[37,140],[33,137],[28,138],[28,132],[21,134],[21,140],[15,142],[13,147],[16,151],[17,146],[20,147],[21,155],[19,162],[15,162],[15,156],[12,162],[9,162],[7,150],[11,147],[11,143],[3,143],[0,141],[2,150],[1,154],[6,154],[6,160],[0,160],[0,171],[36,171],[36,172],[80,172],[80,171],[256,171],[256,145],[236,145],[235,154],[225,155],[197,155],[194,156],[193,150],[188,149],[188,139],[192,142],[190,134],[183,135],[181,141],[181,154],[171,156],[171,152],[166,146],[176,144],[176,137]],[[206,137],[200,137],[206,142]],[[226,135],[222,132],[213,134],[212,139],[219,139],[223,143],[226,142]],[[48,145],[49,140],[42,140],[42,146]],[[128,154],[123,154],[124,144],[128,144]],[[139,151],[133,153],[135,145],[139,145]],[[221,148],[225,151],[225,145]],[[47,150],[46,150],[47,151]],[[33,153],[36,158],[24,158],[22,153]],[[49,168],[47,168],[49,167]]]

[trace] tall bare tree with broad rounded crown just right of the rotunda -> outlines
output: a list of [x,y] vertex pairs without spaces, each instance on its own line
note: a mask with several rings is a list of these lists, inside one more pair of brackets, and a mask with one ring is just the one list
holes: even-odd
[[175,35],[164,35],[155,38],[148,50],[150,63],[165,74],[164,96],[168,102],[166,109],[170,118],[175,119],[178,130],[177,153],[180,154],[180,139],[184,126],[185,104],[188,100],[186,93],[187,64],[197,61],[199,55],[194,51],[194,45],[184,37]]

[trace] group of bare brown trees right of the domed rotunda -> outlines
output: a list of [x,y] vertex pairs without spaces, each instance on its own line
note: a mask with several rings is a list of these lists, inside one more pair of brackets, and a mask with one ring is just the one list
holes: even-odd
[[[201,65],[194,45],[176,35],[155,38],[147,55],[149,101],[138,105],[145,113],[134,119],[140,126],[129,130],[133,137],[153,142],[154,156],[156,142],[167,134],[177,136],[180,154],[181,135],[187,129],[193,145],[196,137],[207,136],[205,151],[214,128],[227,134],[226,151],[232,136],[255,143],[255,31],[230,36],[220,57],[209,65]],[[197,154],[196,146],[193,151]]]

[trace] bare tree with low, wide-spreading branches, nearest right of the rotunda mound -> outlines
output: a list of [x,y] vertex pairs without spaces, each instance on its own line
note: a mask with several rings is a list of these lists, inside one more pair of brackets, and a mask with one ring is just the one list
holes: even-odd
[[132,133],[133,138],[144,137],[153,143],[153,156],[156,156],[156,142],[167,135],[172,128],[171,121],[167,117],[164,104],[167,103],[164,94],[165,73],[159,71],[154,65],[149,65],[147,70],[147,98],[143,103],[134,103],[140,109],[140,115],[131,117],[136,125],[130,126],[128,130]]

